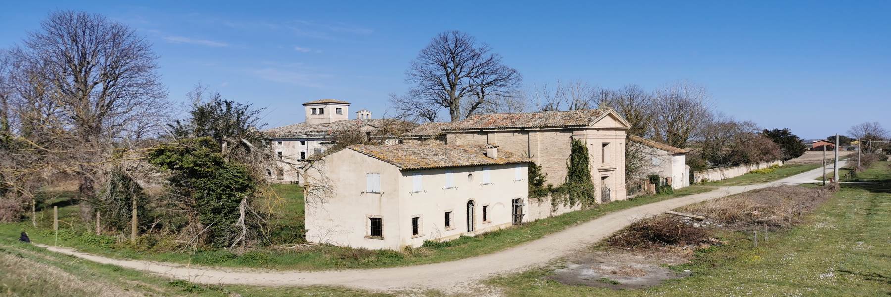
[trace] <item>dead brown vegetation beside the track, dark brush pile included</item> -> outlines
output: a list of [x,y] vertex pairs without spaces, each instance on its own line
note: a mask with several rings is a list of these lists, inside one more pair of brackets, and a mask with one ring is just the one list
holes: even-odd
[[786,228],[801,222],[802,215],[829,199],[838,184],[820,188],[772,186],[709,202],[685,206],[680,211],[705,217],[703,223],[674,215],[662,215],[635,222],[606,242],[623,249],[654,246],[720,244],[714,237],[717,228],[748,230]]

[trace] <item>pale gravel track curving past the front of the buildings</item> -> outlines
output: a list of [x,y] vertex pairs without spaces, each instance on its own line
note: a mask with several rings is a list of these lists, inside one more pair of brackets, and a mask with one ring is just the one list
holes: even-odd
[[[844,162],[842,161],[842,165]],[[792,177],[749,186],[725,186],[713,191],[691,194],[662,202],[619,210],[552,235],[520,244],[502,252],[433,264],[373,269],[330,271],[271,271],[244,268],[186,267],[182,264],[145,260],[118,260],[77,252],[69,248],[41,244],[47,250],[60,252],[102,264],[151,271],[161,276],[186,279],[203,284],[233,285],[337,285],[373,291],[440,290],[462,292],[478,287],[478,281],[528,268],[539,267],[560,257],[579,252],[593,243],[639,219],[657,215],[684,205],[704,202],[728,194],[737,194],[767,186],[811,183],[822,169],[814,169]]]

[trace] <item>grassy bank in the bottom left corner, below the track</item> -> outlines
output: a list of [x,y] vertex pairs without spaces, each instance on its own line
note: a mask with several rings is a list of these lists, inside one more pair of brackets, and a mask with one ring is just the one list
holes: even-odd
[[[236,294],[237,293],[237,294]],[[198,285],[0,238],[0,296],[389,296],[341,287]]]

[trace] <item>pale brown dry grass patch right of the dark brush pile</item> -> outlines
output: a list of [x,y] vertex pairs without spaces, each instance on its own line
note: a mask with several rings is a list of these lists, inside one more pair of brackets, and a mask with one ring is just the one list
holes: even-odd
[[789,227],[800,222],[802,214],[825,202],[836,190],[835,184],[822,188],[772,186],[688,205],[680,211],[736,229],[764,225]]

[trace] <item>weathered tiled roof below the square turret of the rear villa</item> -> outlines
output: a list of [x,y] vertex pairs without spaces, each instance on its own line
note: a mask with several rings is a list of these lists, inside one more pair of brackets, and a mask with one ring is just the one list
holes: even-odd
[[298,123],[279,128],[271,128],[266,131],[266,136],[272,138],[292,138],[303,136],[335,136],[348,131],[358,131],[364,125],[374,128],[388,128],[392,134],[401,134],[415,128],[417,124],[394,119],[371,120],[338,120],[327,124]]

